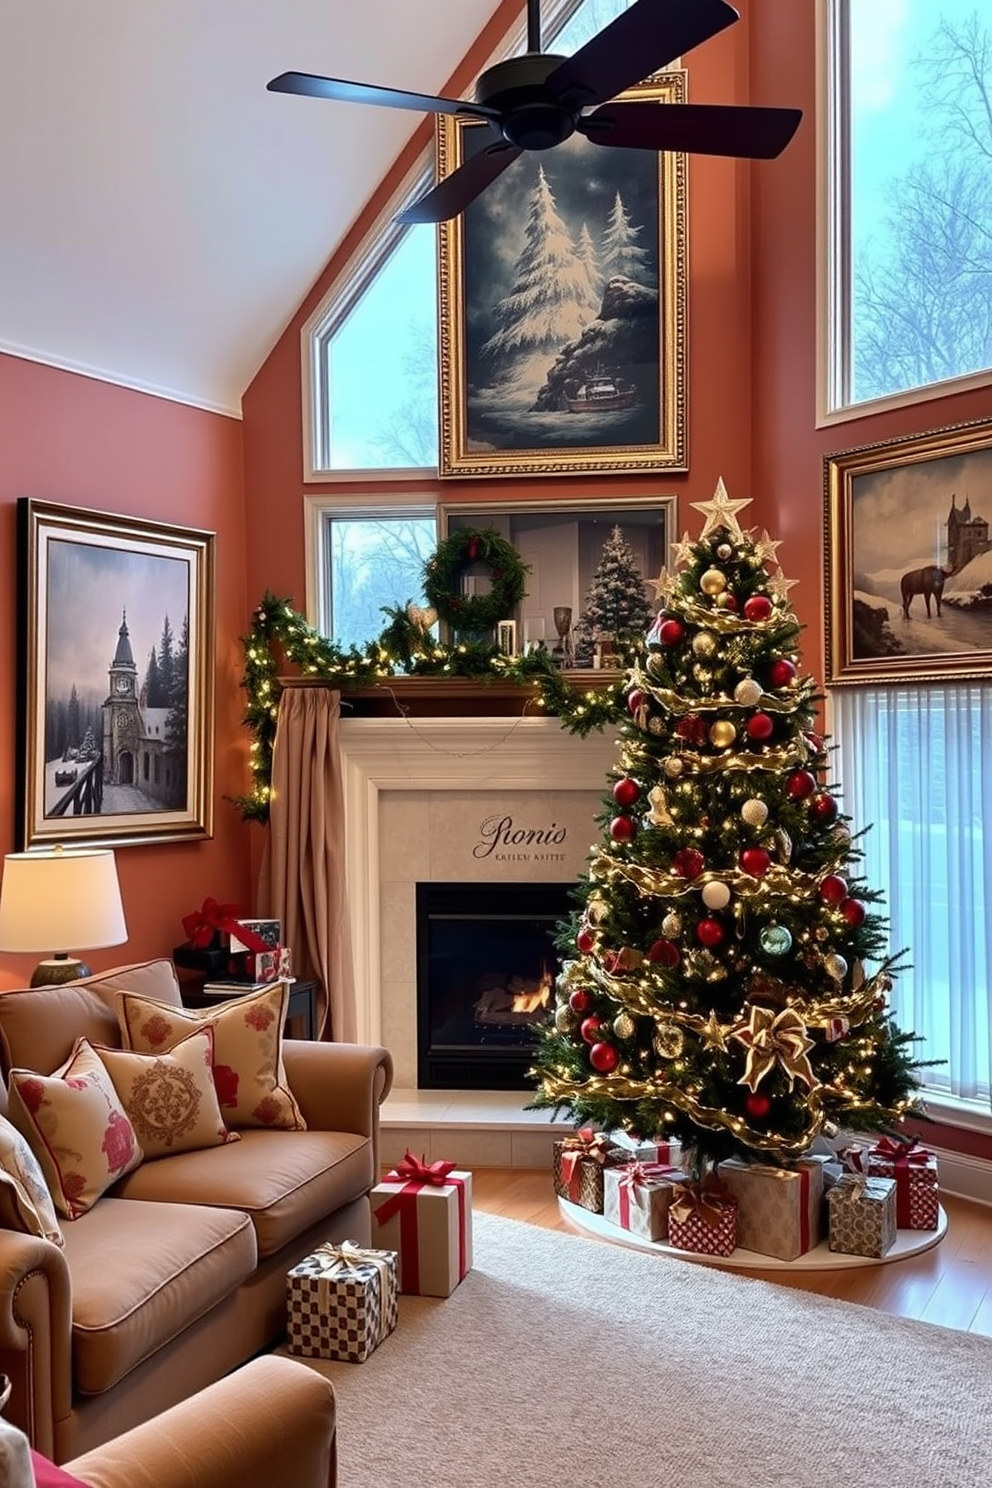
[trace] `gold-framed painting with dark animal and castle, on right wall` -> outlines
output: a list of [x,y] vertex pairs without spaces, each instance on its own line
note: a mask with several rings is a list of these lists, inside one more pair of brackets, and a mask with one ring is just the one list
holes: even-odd
[[992,674],[992,420],[824,458],[827,682]]

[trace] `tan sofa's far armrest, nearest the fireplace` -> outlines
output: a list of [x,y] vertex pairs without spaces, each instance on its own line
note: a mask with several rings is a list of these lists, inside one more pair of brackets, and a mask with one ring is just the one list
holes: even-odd
[[378,1173],[379,1107],[393,1085],[390,1051],[372,1043],[286,1039],[283,1062],[306,1125],[370,1137]]

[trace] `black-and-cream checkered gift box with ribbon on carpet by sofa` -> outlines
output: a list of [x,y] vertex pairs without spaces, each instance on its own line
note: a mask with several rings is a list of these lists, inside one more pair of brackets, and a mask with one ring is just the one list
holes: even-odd
[[397,1318],[396,1253],[318,1245],[287,1275],[292,1354],[363,1363]]

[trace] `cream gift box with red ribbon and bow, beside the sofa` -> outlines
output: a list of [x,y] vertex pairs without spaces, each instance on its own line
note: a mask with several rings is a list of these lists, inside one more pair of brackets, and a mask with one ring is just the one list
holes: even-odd
[[408,1152],[370,1198],[375,1240],[399,1253],[400,1292],[451,1296],[471,1271],[471,1174]]

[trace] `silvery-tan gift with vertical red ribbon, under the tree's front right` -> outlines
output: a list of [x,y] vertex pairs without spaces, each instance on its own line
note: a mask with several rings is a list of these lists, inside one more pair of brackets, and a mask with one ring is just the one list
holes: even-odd
[[717,1173],[738,1201],[738,1245],[759,1256],[796,1260],[822,1240],[824,1161],[791,1168],[729,1158]]

